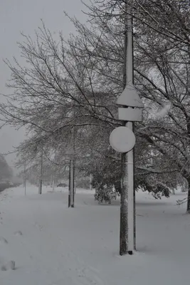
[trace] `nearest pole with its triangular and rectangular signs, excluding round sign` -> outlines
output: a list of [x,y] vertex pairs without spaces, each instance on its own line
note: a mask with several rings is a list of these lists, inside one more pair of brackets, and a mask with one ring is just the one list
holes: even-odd
[[[125,68],[124,90],[117,100],[119,118],[123,125],[132,133],[135,121],[142,120],[144,105],[134,88],[133,66],[133,31],[132,31],[132,0],[125,2]],[[134,133],[133,133],[134,134]],[[130,137],[127,138],[128,142]],[[120,255],[132,254],[136,249],[136,215],[135,215],[135,191],[134,191],[134,150],[133,147],[122,153],[122,193],[121,193],[121,217],[120,217]]]

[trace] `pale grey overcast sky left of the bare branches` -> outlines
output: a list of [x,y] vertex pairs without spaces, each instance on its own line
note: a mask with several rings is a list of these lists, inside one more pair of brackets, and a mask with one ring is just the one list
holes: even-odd
[[[75,33],[75,28],[65,17],[63,11],[70,16],[76,16],[85,22],[86,16],[81,11],[86,8],[80,0],[0,0],[0,94],[9,93],[6,89],[6,81],[10,78],[9,69],[5,66],[3,58],[11,59],[13,56],[19,58],[18,41],[22,41],[21,31],[33,36],[43,19],[52,33],[63,32],[67,37],[69,33]],[[87,1],[85,1],[87,2]],[[4,97],[0,95],[0,102]],[[16,131],[6,127],[0,130],[0,153],[14,150],[24,139],[23,130]],[[6,156],[10,166],[14,165],[15,155]]]

